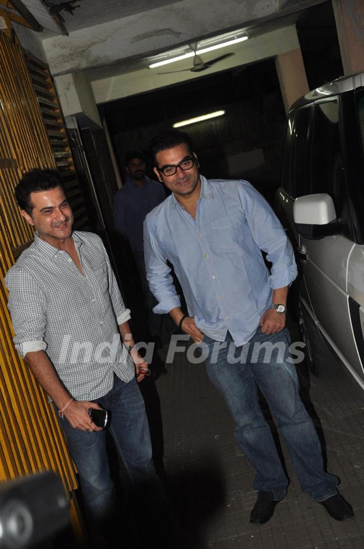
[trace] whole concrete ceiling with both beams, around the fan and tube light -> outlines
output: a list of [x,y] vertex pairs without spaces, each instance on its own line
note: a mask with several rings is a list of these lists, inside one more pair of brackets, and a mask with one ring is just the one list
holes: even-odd
[[[53,0],[54,1],[54,0]],[[43,47],[57,86],[67,90],[68,75],[82,72],[96,103],[143,93],[243,67],[299,48],[295,21],[303,10],[325,0],[78,0],[62,12],[69,37],[53,36]],[[62,3],[61,0],[59,3]],[[191,72],[192,59],[147,69],[151,55],[246,29],[251,39],[203,54],[204,62],[231,57],[203,72]],[[168,71],[172,74],[162,74]],[[72,77],[73,78],[73,77]],[[60,92],[59,92],[60,93]]]

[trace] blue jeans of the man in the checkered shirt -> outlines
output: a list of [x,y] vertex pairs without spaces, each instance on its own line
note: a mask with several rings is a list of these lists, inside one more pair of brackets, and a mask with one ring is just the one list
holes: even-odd
[[[109,431],[126,467],[136,505],[139,509],[144,506],[146,513],[152,508],[166,517],[166,498],[153,466],[144,400],[136,380],[125,383],[114,376],[111,391],[94,402],[111,413]],[[118,506],[106,455],[106,433],[74,429],[66,418],[59,422],[78,469],[84,501],[95,522],[103,525]]]

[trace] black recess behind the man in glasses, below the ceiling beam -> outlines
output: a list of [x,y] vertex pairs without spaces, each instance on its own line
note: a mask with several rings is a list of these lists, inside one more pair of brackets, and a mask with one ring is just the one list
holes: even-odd
[[[145,153],[151,138],[174,122],[220,109],[224,116],[186,127],[201,173],[246,179],[270,200],[279,181],[285,122],[274,60],[99,105],[121,170],[126,150]],[[151,165],[147,175],[155,179]]]

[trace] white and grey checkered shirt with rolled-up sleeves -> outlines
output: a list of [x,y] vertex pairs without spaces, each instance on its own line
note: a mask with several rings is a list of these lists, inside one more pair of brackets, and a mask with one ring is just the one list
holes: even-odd
[[5,277],[8,307],[21,356],[44,350],[77,400],[104,396],[113,372],[125,382],[134,364],[121,344],[118,324],[130,318],[103,242],[73,231],[83,275],[66,251],[34,242]]

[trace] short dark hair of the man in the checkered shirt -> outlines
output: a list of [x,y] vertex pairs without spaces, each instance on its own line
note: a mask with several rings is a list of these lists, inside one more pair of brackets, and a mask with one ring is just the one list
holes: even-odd
[[61,176],[55,170],[31,170],[25,173],[15,187],[15,198],[19,208],[31,215],[33,209],[31,193],[49,191],[56,187],[61,187],[62,191],[65,190]]

